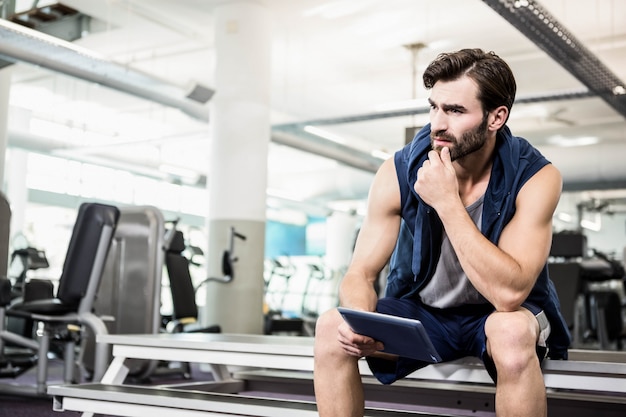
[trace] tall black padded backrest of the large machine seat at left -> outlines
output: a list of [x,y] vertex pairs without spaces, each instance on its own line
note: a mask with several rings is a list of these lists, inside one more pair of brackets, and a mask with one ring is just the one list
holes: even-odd
[[[79,207],[56,297],[63,304],[79,312],[91,310],[119,215],[119,209],[110,205]],[[83,299],[86,305],[81,304]]]

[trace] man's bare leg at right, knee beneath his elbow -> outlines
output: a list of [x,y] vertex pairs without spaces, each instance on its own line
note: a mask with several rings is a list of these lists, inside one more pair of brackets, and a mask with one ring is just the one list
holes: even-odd
[[485,325],[487,349],[498,371],[498,417],[546,417],[547,399],[536,354],[539,325],[531,312],[493,313]]

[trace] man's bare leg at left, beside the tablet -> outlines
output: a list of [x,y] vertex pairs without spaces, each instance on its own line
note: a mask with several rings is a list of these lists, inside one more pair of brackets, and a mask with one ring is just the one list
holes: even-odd
[[315,330],[315,398],[320,417],[362,417],[363,384],[358,358],[347,355],[337,341],[341,321],[337,310],[324,313]]

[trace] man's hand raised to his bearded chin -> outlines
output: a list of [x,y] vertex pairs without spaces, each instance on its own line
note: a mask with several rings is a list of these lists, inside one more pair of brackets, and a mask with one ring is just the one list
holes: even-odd
[[428,159],[417,170],[414,189],[435,210],[437,205],[446,204],[451,198],[459,198],[459,185],[450,159],[450,149],[443,148],[441,154],[436,151],[428,153]]

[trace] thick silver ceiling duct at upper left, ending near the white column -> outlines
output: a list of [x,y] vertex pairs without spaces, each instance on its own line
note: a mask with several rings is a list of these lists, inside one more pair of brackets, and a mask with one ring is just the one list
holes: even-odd
[[195,85],[183,88],[104,59],[92,51],[21,25],[0,19],[0,58],[47,68],[124,93],[180,109],[209,120],[203,104],[213,91]]

